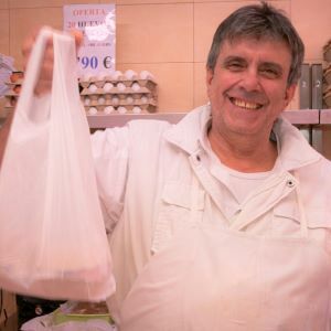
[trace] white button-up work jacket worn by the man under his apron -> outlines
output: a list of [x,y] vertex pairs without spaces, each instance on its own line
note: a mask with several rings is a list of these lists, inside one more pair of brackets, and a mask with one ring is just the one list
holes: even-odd
[[224,226],[237,231],[296,237],[300,229],[296,190],[300,190],[309,236],[331,252],[331,162],[280,117],[274,126],[280,150],[277,172],[238,206],[235,212],[245,213],[245,217],[233,224],[226,182],[216,180],[205,166],[209,156],[202,141],[210,118],[210,107],[203,106],[178,125],[136,120],[93,135],[97,183],[111,233],[115,312],[151,256],[190,222],[194,173],[200,179],[199,212],[194,214],[202,222],[211,214],[217,222],[224,218],[217,217],[222,213],[228,215]]

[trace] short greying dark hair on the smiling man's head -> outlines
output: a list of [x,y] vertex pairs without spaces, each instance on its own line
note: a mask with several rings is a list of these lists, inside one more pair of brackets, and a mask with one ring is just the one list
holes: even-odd
[[298,82],[305,56],[303,42],[290,20],[281,11],[264,1],[260,4],[237,9],[218,25],[207,56],[206,67],[214,71],[224,41],[234,41],[243,36],[285,42],[292,57],[287,84],[291,85]]

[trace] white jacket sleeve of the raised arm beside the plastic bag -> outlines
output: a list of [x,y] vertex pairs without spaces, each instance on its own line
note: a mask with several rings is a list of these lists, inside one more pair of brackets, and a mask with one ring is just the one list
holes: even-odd
[[92,154],[107,233],[119,220],[128,171],[128,127],[106,129],[92,135]]

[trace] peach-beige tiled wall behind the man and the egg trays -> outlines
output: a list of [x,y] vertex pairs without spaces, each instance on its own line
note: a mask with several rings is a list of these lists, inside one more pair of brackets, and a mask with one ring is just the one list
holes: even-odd
[[[21,44],[38,24],[62,26],[62,6],[105,0],[0,0],[0,52],[22,67]],[[186,111],[206,102],[205,58],[213,32],[234,9],[257,1],[117,0],[117,68],[148,70],[159,84],[159,111]],[[274,0],[320,62],[331,38],[331,0]],[[298,97],[290,105],[298,108]]]

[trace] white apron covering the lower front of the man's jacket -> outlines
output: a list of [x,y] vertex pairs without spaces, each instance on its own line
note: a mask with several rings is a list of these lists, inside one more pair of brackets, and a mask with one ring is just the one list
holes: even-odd
[[308,238],[297,195],[297,238],[188,225],[138,276],[120,331],[328,331],[330,256]]

